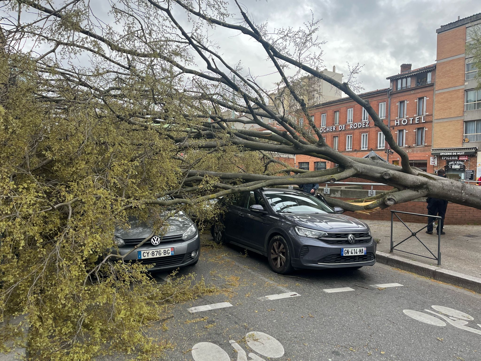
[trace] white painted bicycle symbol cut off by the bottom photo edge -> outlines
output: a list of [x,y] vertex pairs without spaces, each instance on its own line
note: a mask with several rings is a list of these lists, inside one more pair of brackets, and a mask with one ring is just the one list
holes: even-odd
[[[253,331],[245,335],[245,342],[258,354],[269,359],[277,359],[284,355],[284,347],[274,337],[264,332]],[[241,345],[234,340],[229,340],[230,346],[237,352],[237,361],[265,361],[253,352],[247,355]],[[249,358],[248,358],[249,357]],[[224,349],[212,342],[199,342],[192,347],[192,358],[195,361],[230,361]]]

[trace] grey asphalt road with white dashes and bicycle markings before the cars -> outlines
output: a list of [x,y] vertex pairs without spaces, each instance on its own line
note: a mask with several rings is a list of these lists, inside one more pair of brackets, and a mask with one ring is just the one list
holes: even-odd
[[283,277],[208,239],[180,274],[220,291],[172,306],[166,360],[481,360],[479,294],[380,264]]

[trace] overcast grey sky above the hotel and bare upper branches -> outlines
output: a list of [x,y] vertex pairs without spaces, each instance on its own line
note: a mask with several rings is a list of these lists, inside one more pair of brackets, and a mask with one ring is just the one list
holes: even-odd
[[[232,1],[233,2],[233,1]],[[386,88],[386,77],[399,73],[400,64],[413,69],[435,63],[436,29],[441,25],[481,12],[479,0],[242,0],[256,23],[270,28],[302,26],[311,20],[311,10],[322,19],[319,39],[323,61],[331,70],[347,74],[347,63],[364,64],[358,80],[366,91]],[[235,9],[232,8],[232,11]],[[242,60],[253,74],[272,70],[252,41],[215,35],[224,56]],[[266,88],[278,80],[263,77]]]

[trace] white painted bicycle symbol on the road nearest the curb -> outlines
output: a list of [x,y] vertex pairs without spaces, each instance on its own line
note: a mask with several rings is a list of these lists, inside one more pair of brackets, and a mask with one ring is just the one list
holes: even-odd
[[[434,316],[431,316],[430,314],[420,312],[420,311],[415,311],[413,309],[404,309],[403,312],[405,315],[418,320],[420,322],[424,322],[433,326],[440,326],[443,327],[446,325],[446,322],[449,324],[465,331],[472,332],[474,334],[481,335],[481,324],[477,323],[478,327],[473,328],[473,327],[468,327],[466,326],[469,322],[468,321],[474,321],[474,318],[472,316],[469,316],[467,313],[464,313],[462,311],[459,311],[457,309],[451,309],[449,307],[444,307],[444,306],[431,306],[432,309],[435,309],[436,311],[440,313],[436,313],[431,311],[430,309],[425,309],[426,312],[430,312],[433,315],[442,318],[440,320],[439,318],[436,318]],[[443,313],[443,314],[441,314]],[[446,316],[445,316],[446,315]],[[449,316],[449,317],[448,317]],[[444,321],[446,322],[444,322]]]

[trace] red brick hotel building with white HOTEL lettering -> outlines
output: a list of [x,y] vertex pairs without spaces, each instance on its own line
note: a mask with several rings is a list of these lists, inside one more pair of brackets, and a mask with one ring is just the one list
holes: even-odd
[[[435,64],[418,69],[402,64],[399,74],[387,77],[389,88],[359,94],[391,128],[392,136],[405,148],[411,164],[430,173],[434,172],[431,144],[435,70]],[[389,163],[399,163],[397,154],[387,154],[384,135],[374,126],[366,110],[350,98],[320,103],[310,111],[326,142],[340,153],[363,157],[374,151],[384,159],[389,158]],[[297,121],[306,122],[304,118]],[[316,170],[335,165],[323,159],[297,155],[296,166]]]

